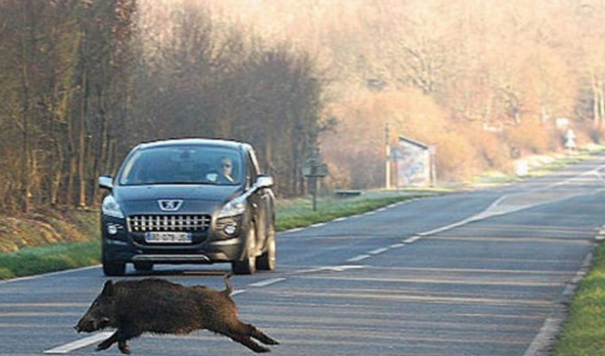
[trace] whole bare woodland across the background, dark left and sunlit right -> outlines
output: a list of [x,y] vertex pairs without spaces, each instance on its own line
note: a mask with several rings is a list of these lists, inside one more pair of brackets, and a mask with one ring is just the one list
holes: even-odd
[[600,143],[602,1],[0,0],[0,214],[94,206],[137,143],[252,143],[280,196],[384,184],[385,125],[440,180]]

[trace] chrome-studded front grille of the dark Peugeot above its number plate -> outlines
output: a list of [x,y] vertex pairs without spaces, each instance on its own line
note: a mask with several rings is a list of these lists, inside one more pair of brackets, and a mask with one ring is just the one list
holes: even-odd
[[209,215],[133,215],[128,217],[128,231],[205,231]]

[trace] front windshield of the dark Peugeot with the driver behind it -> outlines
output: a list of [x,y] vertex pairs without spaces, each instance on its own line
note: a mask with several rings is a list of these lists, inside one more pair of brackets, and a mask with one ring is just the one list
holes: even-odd
[[170,146],[136,151],[125,163],[120,185],[214,184],[241,181],[237,150],[221,147]]

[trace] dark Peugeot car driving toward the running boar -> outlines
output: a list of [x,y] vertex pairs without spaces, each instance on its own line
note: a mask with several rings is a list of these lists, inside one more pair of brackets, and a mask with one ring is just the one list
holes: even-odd
[[174,139],[142,143],[101,206],[103,272],[155,264],[231,263],[235,274],[275,269],[273,178],[249,143]]

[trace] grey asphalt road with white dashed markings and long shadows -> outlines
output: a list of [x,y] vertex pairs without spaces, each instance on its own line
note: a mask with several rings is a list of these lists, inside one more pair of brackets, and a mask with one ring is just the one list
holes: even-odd
[[[232,279],[240,317],[281,341],[275,355],[546,354],[605,223],[604,170],[597,157],[282,232],[275,272]],[[222,289],[227,267],[156,273]],[[0,282],[0,355],[119,354],[94,352],[104,334],[72,329],[105,280],[95,266]],[[129,345],[135,355],[251,354],[208,331]]]

